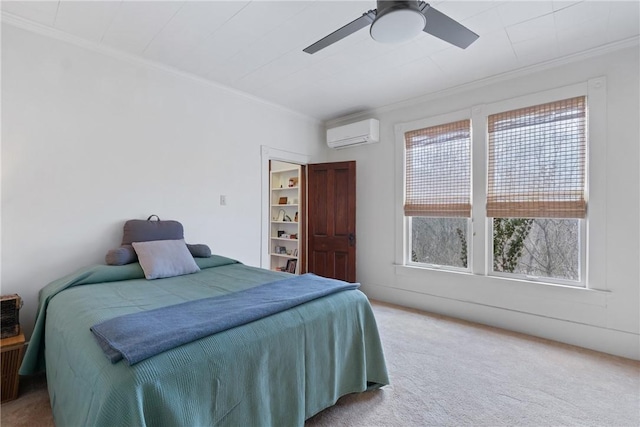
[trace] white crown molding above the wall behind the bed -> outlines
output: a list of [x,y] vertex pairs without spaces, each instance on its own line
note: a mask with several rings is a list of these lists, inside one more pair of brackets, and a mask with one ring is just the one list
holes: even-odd
[[0,14],[2,16],[1,22],[3,25],[10,25],[16,28],[20,28],[22,30],[26,30],[41,36],[45,36],[45,37],[50,37],[52,39],[56,39],[65,43],[69,43],[75,46],[78,46],[80,48],[83,49],[87,49],[105,56],[109,56],[121,61],[126,61],[129,63],[133,63],[136,65],[142,65],[145,67],[149,67],[149,68],[153,68],[156,70],[160,70],[169,74],[173,74],[177,77],[181,77],[187,80],[191,80],[192,82],[204,85],[204,86],[208,86],[208,87],[212,87],[218,90],[222,90],[225,92],[229,92],[231,94],[243,97],[245,99],[254,101],[254,102],[258,102],[260,104],[263,104],[265,106],[271,107],[273,109],[276,110],[280,110],[282,112],[285,112],[287,114],[291,114],[294,116],[297,116],[298,118],[302,118],[305,120],[308,120],[309,122],[313,123],[313,124],[322,124],[322,121],[319,120],[316,117],[312,117],[312,116],[308,116],[306,114],[300,113],[299,111],[295,111],[295,110],[291,110],[287,107],[284,107],[280,104],[276,104],[274,102],[271,101],[267,101],[266,99],[248,94],[246,92],[243,92],[241,90],[238,89],[234,89],[232,87],[223,85],[222,83],[218,83],[215,82],[213,80],[208,80],[205,79],[204,77],[198,76],[196,74],[193,73],[189,73],[186,71],[182,71],[179,70],[177,68],[171,67],[169,65],[165,65],[165,64],[161,64],[159,62],[156,61],[152,61],[149,59],[145,59],[142,58],[139,55],[135,55],[135,54],[131,54],[131,53],[127,53],[109,46],[105,46],[102,45],[100,43],[96,43],[94,41],[91,40],[86,40],[83,39],[81,37],[78,36],[74,36],[72,34],[66,33],[64,31],[60,31],[58,29],[55,29],[53,27],[49,27],[47,25],[43,25],[43,24],[39,24],[37,22],[33,22],[30,21],[28,19],[24,19],[21,18],[17,15],[14,15],[12,13],[8,13],[5,11],[0,11]]

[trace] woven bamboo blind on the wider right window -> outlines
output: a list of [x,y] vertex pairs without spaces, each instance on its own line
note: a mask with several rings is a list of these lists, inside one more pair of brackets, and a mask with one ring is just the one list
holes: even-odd
[[487,216],[584,218],[584,96],[488,117]]

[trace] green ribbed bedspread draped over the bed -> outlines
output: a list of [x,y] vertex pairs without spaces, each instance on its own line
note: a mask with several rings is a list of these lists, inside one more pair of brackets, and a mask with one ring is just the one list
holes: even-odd
[[388,384],[375,318],[357,290],[112,364],[95,323],[283,277],[223,257],[197,262],[199,273],[152,281],[138,264],[95,266],[43,288],[21,374],[38,371],[44,354],[57,426],[296,426],[344,394]]

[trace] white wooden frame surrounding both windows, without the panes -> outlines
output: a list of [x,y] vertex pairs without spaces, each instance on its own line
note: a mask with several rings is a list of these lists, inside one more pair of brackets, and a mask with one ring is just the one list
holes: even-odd
[[[407,262],[407,221],[404,217],[404,132],[420,127],[435,126],[450,121],[471,119],[471,226],[468,244],[468,273],[495,280],[528,282],[541,285],[565,286],[572,289],[608,290],[606,283],[606,78],[597,77],[588,81],[563,86],[555,89],[526,94],[492,103],[472,105],[468,109],[395,125],[396,142],[396,226],[395,226],[395,264],[402,274],[402,268],[414,271],[451,270],[459,273],[459,269],[444,266],[425,266],[424,264]],[[587,157],[586,157],[586,189],[587,217],[580,220],[580,283],[576,281],[552,280],[544,277],[523,277],[512,273],[491,274],[493,270],[492,227],[491,219],[486,217],[487,196],[487,153],[488,133],[487,117],[490,114],[512,109],[523,108],[547,102],[572,98],[587,97]],[[410,237],[410,236],[408,236]],[[446,272],[445,272],[446,274]],[[568,285],[568,286],[567,286]]]

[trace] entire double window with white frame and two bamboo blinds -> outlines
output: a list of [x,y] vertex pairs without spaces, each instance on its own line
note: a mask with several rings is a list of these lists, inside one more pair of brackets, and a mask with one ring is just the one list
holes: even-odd
[[400,271],[606,289],[605,114],[596,78],[396,125]]

